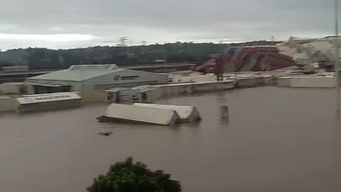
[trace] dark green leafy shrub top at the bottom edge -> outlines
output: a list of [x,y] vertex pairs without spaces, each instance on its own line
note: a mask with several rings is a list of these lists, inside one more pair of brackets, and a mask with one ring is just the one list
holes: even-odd
[[151,171],[141,162],[134,163],[129,157],[126,161],[110,166],[107,175],[94,178],[89,192],[180,192],[178,181],[170,179],[171,174]]

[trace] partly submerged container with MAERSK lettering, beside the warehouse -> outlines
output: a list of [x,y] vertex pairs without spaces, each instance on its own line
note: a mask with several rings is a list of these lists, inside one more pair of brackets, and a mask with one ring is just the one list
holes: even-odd
[[39,112],[80,107],[82,97],[76,92],[58,92],[41,95],[25,95],[16,98],[18,112]]

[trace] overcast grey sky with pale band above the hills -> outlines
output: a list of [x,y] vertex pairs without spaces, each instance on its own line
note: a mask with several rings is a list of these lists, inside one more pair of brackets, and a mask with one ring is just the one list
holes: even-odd
[[240,42],[334,33],[333,0],[0,0],[0,49]]

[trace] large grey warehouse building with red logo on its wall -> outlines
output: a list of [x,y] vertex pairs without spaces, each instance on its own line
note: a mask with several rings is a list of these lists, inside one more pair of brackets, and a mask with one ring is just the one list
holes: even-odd
[[166,84],[168,75],[120,69],[117,65],[72,65],[25,81],[28,94],[94,92],[113,87]]

